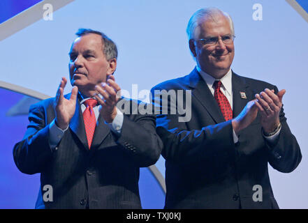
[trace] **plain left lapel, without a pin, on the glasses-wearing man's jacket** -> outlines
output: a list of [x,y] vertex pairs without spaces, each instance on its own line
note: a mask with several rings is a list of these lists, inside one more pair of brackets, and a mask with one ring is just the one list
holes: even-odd
[[189,74],[189,79],[192,95],[205,107],[213,120],[216,123],[225,121],[214,96],[196,68]]

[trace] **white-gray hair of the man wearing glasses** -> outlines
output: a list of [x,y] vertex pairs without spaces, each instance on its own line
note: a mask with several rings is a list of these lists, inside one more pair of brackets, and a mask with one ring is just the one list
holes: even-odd
[[228,13],[224,13],[218,8],[201,8],[198,11],[196,11],[196,13],[193,13],[187,25],[186,33],[189,40],[193,39],[195,30],[200,25],[200,21],[202,19],[204,19],[205,17],[210,17],[210,19],[214,20],[214,18],[217,15],[224,15],[228,18],[230,29],[232,32],[231,34],[234,36],[235,32],[234,32],[233,20],[230,17],[230,15],[228,15]]

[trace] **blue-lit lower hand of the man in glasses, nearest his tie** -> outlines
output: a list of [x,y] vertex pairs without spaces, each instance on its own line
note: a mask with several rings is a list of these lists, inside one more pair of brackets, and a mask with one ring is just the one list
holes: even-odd
[[233,130],[235,134],[238,134],[240,130],[247,128],[255,119],[258,114],[258,107],[256,105],[256,100],[251,100],[242,109],[242,112],[232,120]]

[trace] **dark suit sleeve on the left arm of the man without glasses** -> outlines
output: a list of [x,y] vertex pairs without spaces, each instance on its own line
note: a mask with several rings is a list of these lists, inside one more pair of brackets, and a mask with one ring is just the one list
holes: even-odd
[[24,139],[15,144],[13,157],[15,164],[24,174],[36,174],[43,170],[52,156],[49,145],[49,125],[45,125],[45,112],[40,105],[29,109],[29,125]]

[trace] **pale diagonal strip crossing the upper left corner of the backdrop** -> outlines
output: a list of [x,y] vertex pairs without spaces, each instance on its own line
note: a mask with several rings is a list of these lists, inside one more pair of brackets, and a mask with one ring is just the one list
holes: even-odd
[[43,6],[45,3],[52,4],[53,11],[56,11],[72,1],[75,0],[44,0],[36,3],[34,6],[31,6],[27,10],[22,11],[0,24],[0,41],[12,36],[14,33],[17,33],[17,31],[26,28],[34,22],[43,19]]

